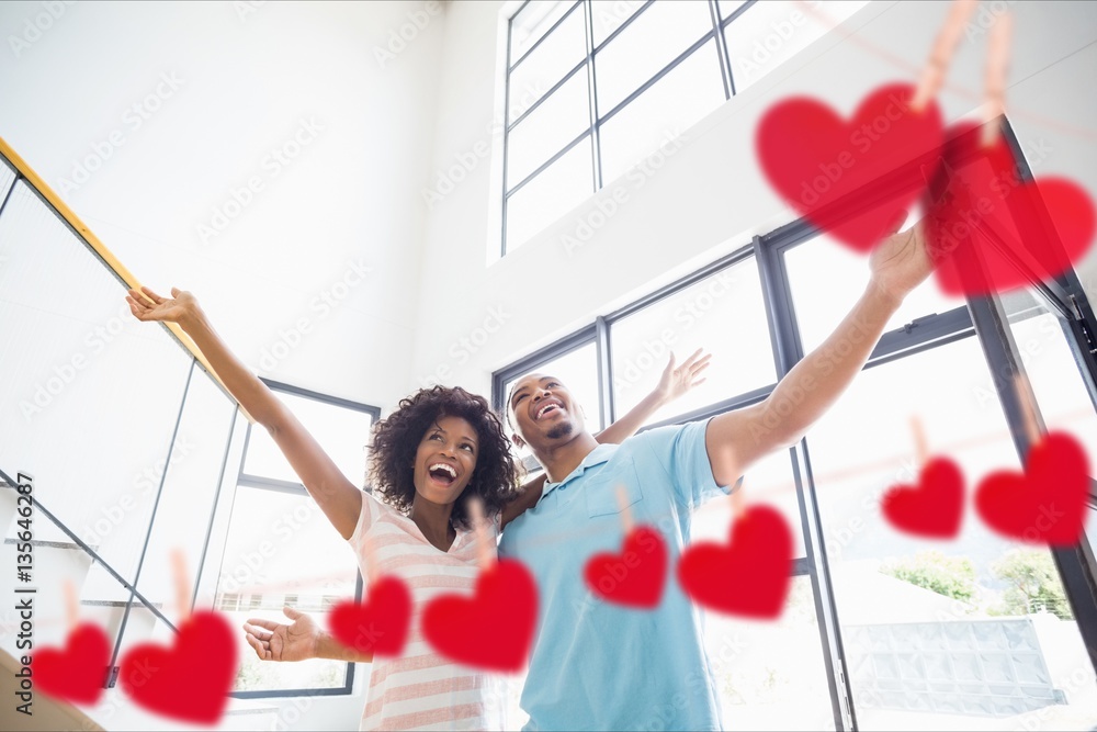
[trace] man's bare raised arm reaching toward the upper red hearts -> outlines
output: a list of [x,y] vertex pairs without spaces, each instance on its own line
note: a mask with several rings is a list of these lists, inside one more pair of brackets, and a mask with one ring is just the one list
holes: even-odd
[[882,241],[869,268],[869,284],[853,308],[764,402],[709,423],[704,444],[719,485],[732,485],[765,455],[795,444],[846,391],[903,299],[932,271],[924,223]]

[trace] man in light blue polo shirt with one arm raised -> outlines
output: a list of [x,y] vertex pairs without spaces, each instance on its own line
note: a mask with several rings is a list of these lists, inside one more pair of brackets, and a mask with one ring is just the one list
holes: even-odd
[[690,540],[690,511],[800,440],[931,269],[921,224],[887,237],[870,257],[864,293],[830,337],[765,402],[704,423],[599,444],[558,380],[533,373],[514,384],[507,404],[514,440],[548,476],[541,499],[499,544],[500,556],[530,567],[541,593],[522,692],[527,729],[722,729],[700,615],[677,584],[667,582],[657,608],[624,608],[591,595],[584,565],[598,552],[620,551],[625,504],[636,525],[658,529],[676,566]]

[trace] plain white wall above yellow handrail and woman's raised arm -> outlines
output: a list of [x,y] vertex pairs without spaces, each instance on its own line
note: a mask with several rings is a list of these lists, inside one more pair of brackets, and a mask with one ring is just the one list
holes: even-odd
[[[441,3],[425,8],[0,3],[0,136],[143,282],[197,294],[248,365],[387,406],[417,317],[444,24]],[[155,111],[133,110],[150,94]],[[293,154],[303,120],[323,128],[301,133],[287,165],[269,157]],[[102,161],[80,184],[89,157]],[[253,177],[262,190],[234,212],[233,190]],[[203,237],[226,204],[237,215]],[[358,260],[372,271],[343,291]],[[308,333],[283,351],[302,319]]]

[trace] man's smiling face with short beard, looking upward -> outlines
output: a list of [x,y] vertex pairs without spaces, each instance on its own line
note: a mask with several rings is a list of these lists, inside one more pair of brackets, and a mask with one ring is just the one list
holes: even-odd
[[563,444],[586,429],[583,410],[555,376],[532,373],[519,379],[508,408],[516,442],[529,444],[534,454]]

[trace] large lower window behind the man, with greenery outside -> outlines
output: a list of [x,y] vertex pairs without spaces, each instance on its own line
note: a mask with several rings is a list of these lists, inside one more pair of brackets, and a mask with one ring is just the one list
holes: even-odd
[[[708,383],[651,421],[756,404],[833,331],[867,278],[863,258],[791,224],[497,372],[496,403],[524,373],[570,360],[587,373],[555,375],[608,396],[612,421],[656,383],[670,348],[685,358],[704,346],[716,353]],[[930,453],[962,466],[969,493],[993,470],[1016,470],[1027,438],[1014,373],[1028,374],[1048,428],[1072,432],[1097,464],[1095,331],[1073,271],[970,301],[930,279],[904,301],[841,399],[745,475],[747,500],[794,527],[795,556],[777,622],[706,613],[730,725],[846,730],[856,717],[873,729],[1092,727],[1097,513],[1078,547],[1049,551],[996,534],[970,499],[954,540],[909,537],[883,520],[880,498],[914,480],[912,414]],[[1093,474],[1090,484],[1093,507]],[[694,511],[694,540],[726,537],[728,504]]]

